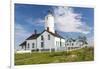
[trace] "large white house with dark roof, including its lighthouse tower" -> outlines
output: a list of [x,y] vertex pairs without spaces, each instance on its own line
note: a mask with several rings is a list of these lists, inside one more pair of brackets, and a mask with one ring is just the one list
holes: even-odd
[[65,48],[65,39],[54,29],[54,16],[51,12],[45,17],[45,30],[32,34],[20,44],[23,51],[62,51]]

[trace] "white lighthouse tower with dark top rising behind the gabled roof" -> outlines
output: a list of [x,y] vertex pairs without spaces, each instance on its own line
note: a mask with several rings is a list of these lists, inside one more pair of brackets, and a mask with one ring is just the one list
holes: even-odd
[[49,30],[50,32],[55,33],[54,16],[51,11],[48,11],[48,15],[45,16],[45,30]]

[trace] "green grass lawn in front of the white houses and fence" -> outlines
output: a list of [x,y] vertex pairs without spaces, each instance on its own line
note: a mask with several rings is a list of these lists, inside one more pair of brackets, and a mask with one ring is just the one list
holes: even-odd
[[94,49],[82,48],[74,51],[15,54],[15,65],[46,64],[62,62],[93,61]]

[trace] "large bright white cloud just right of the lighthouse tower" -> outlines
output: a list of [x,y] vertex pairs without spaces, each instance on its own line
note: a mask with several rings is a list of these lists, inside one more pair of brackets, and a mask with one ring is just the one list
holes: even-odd
[[88,34],[91,30],[82,22],[82,14],[75,13],[73,8],[53,7],[56,29],[62,32],[80,32]]

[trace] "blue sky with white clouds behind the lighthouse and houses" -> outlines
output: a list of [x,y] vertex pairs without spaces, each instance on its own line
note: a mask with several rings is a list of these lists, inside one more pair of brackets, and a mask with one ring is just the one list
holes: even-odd
[[85,35],[93,42],[93,8],[15,4],[16,46],[34,33],[34,29],[38,33],[44,30],[44,17],[48,14],[48,10],[52,10],[55,16],[55,29],[63,37]]

